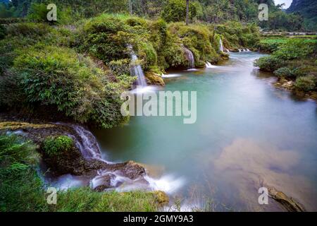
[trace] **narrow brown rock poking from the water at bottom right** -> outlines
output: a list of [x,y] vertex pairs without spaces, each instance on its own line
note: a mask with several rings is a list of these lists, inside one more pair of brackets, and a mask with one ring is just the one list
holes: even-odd
[[274,187],[268,188],[268,195],[271,196],[275,201],[280,203],[284,208],[286,208],[290,212],[304,212],[305,208],[294,200],[292,197],[288,197],[282,191],[276,190]]

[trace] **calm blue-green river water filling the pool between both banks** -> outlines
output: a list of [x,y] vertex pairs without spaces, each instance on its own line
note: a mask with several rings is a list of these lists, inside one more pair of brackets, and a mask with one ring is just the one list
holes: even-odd
[[197,122],[132,117],[94,130],[104,158],[144,164],[183,210],[283,210],[271,198],[259,204],[262,186],[317,210],[316,102],[273,87],[275,78],[253,66],[261,56],[231,53],[211,69],[170,71],[163,90],[197,91]]

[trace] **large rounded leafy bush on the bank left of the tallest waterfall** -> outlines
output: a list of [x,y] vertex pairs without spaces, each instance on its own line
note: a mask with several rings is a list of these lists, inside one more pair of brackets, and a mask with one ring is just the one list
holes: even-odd
[[123,87],[109,81],[105,71],[72,49],[32,47],[21,52],[14,67],[22,76],[20,85],[30,104],[52,105],[77,121],[104,128],[123,120]]

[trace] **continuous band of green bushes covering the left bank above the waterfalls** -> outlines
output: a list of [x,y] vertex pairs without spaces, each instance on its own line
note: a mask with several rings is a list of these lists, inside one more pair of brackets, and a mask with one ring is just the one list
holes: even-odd
[[219,51],[220,37],[236,51],[259,41],[255,24],[186,26],[123,14],[101,14],[71,27],[11,23],[2,28],[2,109],[50,109],[52,115],[60,112],[103,128],[126,120],[120,114],[120,94],[135,79],[130,76],[130,47],[144,71],[161,74],[170,67],[187,67],[185,47],[193,52],[195,65],[204,67],[206,61],[226,57]]

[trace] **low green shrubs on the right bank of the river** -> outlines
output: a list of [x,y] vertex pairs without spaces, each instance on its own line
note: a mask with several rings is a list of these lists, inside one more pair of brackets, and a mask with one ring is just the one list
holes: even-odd
[[268,38],[260,43],[261,49],[273,52],[256,61],[263,71],[271,71],[279,80],[292,81],[295,92],[317,91],[317,40],[292,38]]

